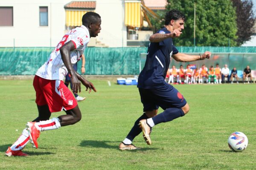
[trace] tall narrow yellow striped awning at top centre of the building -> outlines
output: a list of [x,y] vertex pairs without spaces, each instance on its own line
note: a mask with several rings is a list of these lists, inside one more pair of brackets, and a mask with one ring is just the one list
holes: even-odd
[[125,26],[141,27],[141,1],[125,0]]

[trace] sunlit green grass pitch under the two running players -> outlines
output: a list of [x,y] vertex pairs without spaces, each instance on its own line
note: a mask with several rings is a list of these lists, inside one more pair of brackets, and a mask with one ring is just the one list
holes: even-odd
[[[41,133],[29,157],[4,152],[37,114],[32,80],[1,80],[0,169],[8,170],[252,170],[256,167],[256,85],[175,85],[190,105],[186,116],[153,128],[152,145],[134,139],[142,150],[120,151],[134,121],[143,113],[136,86],[91,80],[97,93],[82,88],[82,119],[75,125]],[[160,109],[158,113],[163,110]],[[59,116],[64,112],[52,113]],[[241,131],[248,147],[234,153],[229,135]]]

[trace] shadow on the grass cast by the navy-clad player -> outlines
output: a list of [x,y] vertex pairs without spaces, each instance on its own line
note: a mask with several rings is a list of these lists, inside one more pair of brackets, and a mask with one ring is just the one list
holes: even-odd
[[[115,143],[116,145],[112,146],[107,143]],[[102,148],[110,148],[110,149],[118,149],[119,142],[113,142],[113,141],[93,141],[93,140],[84,140],[80,143],[81,147],[102,147]],[[140,150],[129,150],[133,152],[137,151],[144,151],[144,150],[157,150],[157,148],[149,148],[149,147],[144,147],[141,148]]]

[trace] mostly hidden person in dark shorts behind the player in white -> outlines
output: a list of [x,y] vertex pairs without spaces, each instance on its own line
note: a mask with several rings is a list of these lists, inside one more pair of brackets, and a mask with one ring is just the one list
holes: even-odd
[[[81,73],[84,74],[85,73],[85,68],[84,68],[84,65],[85,65],[85,57],[84,57],[84,54],[82,54],[81,56],[81,59],[82,59],[82,67],[81,67]],[[73,65],[73,68],[75,71],[77,71],[77,62],[76,64]],[[70,88],[72,90],[73,88],[73,85],[72,85],[72,82],[71,82],[71,79],[70,79],[70,74],[67,74],[66,75],[66,78],[65,78],[65,82],[64,84],[68,87],[68,85],[70,84]],[[85,97],[81,97],[79,96],[78,94],[74,93],[74,96],[76,98],[76,101],[80,102],[80,101],[83,101],[85,99]]]

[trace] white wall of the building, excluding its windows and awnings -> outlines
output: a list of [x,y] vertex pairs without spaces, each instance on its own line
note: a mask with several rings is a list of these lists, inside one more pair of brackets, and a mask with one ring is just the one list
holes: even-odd
[[[0,6],[13,6],[13,26],[0,26],[0,47],[55,46],[65,33],[64,5],[72,0],[1,0]],[[48,26],[39,26],[39,6],[48,6]],[[97,40],[109,47],[126,46],[124,0],[96,0],[102,18]]]

